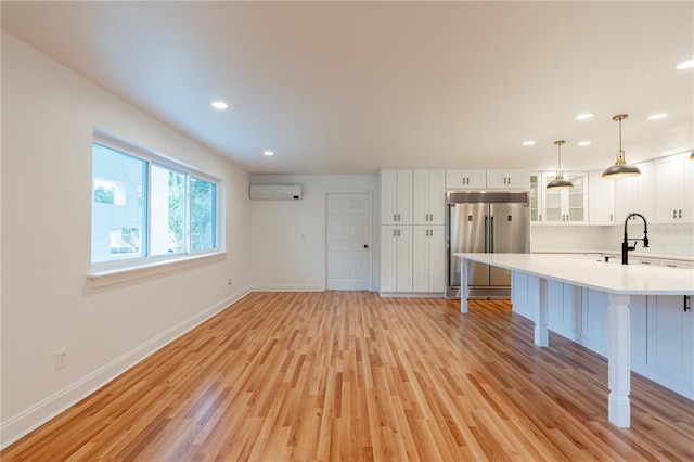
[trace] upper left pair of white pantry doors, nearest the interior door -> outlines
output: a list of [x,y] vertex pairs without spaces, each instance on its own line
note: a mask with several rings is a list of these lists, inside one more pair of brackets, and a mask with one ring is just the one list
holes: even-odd
[[381,170],[381,224],[412,224],[412,170]]

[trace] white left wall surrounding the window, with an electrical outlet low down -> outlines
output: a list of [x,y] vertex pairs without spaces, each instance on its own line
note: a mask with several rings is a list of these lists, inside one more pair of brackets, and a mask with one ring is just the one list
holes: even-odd
[[[227,256],[92,288],[86,274],[94,128],[221,178]],[[5,33],[2,162],[0,444],[7,446],[245,294],[250,202],[245,171]],[[63,348],[67,367],[56,371]]]

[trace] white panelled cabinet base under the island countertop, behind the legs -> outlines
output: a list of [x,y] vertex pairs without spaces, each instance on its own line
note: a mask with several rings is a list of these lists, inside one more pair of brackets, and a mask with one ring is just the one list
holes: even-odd
[[[537,277],[513,272],[513,312],[535,322],[538,294]],[[551,331],[607,356],[607,294],[548,281],[547,298]],[[684,307],[681,295],[630,297],[631,369],[694,399],[694,312]]]

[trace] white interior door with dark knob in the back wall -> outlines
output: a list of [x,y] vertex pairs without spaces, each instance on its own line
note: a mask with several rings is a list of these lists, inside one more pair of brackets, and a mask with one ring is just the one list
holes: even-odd
[[327,288],[367,291],[371,280],[371,198],[327,194]]

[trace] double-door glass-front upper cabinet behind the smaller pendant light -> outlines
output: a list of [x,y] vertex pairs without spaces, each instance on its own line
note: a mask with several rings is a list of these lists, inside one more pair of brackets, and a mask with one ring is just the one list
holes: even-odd
[[542,222],[549,224],[587,224],[588,192],[586,172],[566,172],[564,178],[574,183],[569,189],[544,188],[555,178],[554,172],[542,174]]

